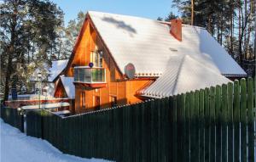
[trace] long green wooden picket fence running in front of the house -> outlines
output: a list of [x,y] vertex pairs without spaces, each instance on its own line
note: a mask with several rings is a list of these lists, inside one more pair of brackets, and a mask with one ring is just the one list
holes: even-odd
[[255,159],[252,78],[66,118],[27,114],[27,134],[67,154],[116,161]]

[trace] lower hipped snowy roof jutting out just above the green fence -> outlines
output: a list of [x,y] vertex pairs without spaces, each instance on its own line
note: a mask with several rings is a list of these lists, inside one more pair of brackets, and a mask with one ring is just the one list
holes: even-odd
[[218,70],[207,68],[189,55],[175,56],[169,60],[163,75],[139,93],[146,97],[163,98],[228,82],[230,80]]

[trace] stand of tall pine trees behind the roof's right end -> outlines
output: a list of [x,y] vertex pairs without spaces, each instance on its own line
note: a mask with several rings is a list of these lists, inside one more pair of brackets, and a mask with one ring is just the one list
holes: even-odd
[[254,0],[174,0],[172,3],[181,13],[183,23],[206,28],[247,70],[242,60],[255,59]]

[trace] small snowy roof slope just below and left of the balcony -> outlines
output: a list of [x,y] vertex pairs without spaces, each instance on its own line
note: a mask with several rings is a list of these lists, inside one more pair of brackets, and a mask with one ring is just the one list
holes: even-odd
[[60,76],[63,87],[68,98],[75,98],[75,87],[73,85],[73,77]]

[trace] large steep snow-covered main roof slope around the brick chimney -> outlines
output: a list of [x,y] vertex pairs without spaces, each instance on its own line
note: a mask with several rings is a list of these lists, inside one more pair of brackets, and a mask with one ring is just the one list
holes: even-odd
[[159,76],[173,56],[189,55],[203,68],[222,75],[246,75],[207,30],[183,25],[183,41],[170,34],[170,25],[157,20],[89,11],[90,19],[107,45],[119,70],[132,63],[137,76]]

